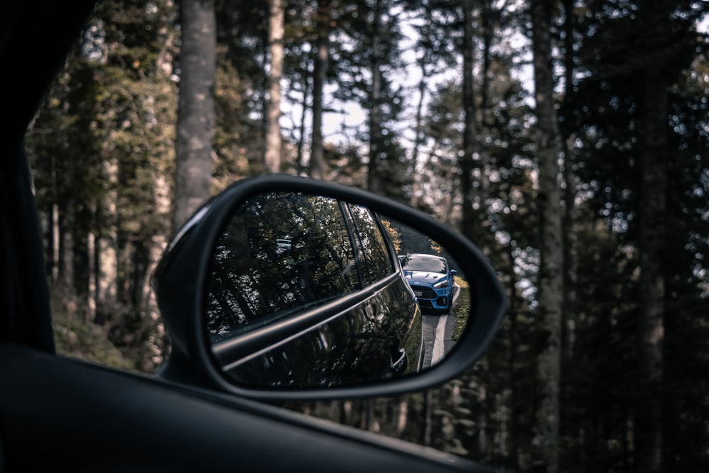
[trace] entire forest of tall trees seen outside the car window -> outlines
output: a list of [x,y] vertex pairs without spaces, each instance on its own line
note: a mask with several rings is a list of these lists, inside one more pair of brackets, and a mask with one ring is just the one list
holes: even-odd
[[510,472],[709,471],[705,0],[101,0],[26,143],[57,350],[154,373],[167,242],[281,172],[402,201],[510,301],[483,360],[288,408]]

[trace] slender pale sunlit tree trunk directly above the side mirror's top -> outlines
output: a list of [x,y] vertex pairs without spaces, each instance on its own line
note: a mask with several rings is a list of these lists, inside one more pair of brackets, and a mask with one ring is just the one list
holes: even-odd
[[282,0],[269,1],[268,43],[271,56],[268,75],[269,98],[266,108],[266,145],[264,172],[281,170],[281,77],[283,76],[283,37],[285,11]]

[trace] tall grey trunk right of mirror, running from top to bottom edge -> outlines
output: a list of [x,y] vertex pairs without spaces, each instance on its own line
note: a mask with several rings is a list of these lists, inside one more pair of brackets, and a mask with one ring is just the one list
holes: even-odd
[[559,471],[559,382],[561,379],[561,325],[563,304],[562,213],[559,192],[558,126],[554,109],[552,1],[531,4],[532,48],[537,113],[539,159],[540,272],[539,311],[536,317],[535,360],[538,404],[536,406],[536,462],[540,470]]

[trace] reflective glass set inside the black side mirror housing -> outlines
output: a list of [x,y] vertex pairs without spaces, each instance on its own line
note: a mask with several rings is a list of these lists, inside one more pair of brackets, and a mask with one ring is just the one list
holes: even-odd
[[350,386],[439,362],[469,288],[445,248],[369,208],[268,193],[235,208],[205,310],[225,374],[254,387]]

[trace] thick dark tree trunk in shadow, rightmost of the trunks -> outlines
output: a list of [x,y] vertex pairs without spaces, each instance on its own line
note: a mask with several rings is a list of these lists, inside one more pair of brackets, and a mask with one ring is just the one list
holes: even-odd
[[640,170],[638,249],[638,371],[635,407],[636,471],[661,472],[662,345],[664,341],[664,211],[666,205],[667,91],[663,73],[649,65],[639,73],[642,96],[637,153]]

